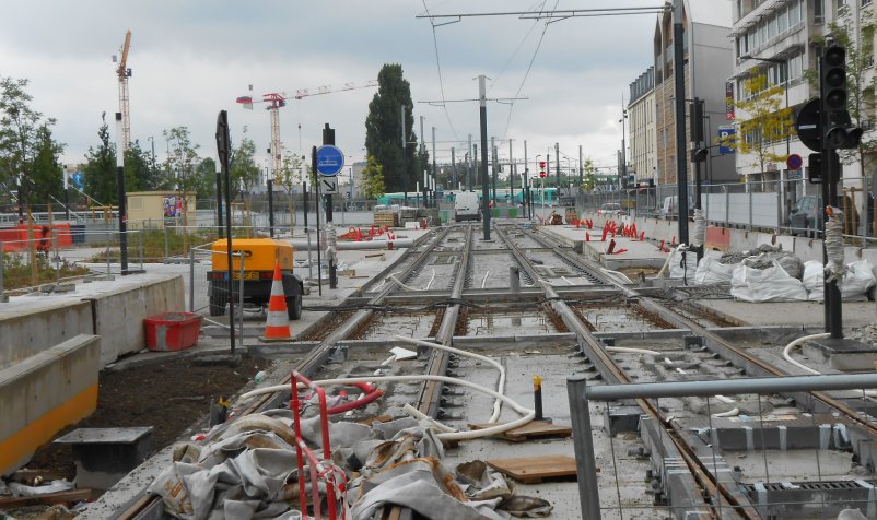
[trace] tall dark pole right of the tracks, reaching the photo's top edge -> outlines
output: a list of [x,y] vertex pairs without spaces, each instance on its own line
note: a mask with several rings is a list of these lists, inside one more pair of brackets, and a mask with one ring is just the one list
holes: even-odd
[[673,1],[673,55],[676,95],[676,182],[679,190],[679,244],[688,244],[688,162],[686,161],[686,78],[682,0]]

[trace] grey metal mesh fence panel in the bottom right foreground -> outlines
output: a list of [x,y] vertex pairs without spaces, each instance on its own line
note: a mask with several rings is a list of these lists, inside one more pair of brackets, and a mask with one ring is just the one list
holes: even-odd
[[[877,515],[877,503],[875,503],[877,495],[874,493],[874,485],[866,483],[863,478],[851,480],[847,477],[842,481],[831,481],[831,475],[823,474],[823,471],[828,472],[827,468],[820,465],[820,452],[822,457],[826,457],[826,451],[830,449],[854,451],[863,465],[873,464],[870,461],[873,453],[863,451],[867,449],[864,442],[860,444],[851,439],[851,433],[843,427],[840,419],[832,416],[834,418],[830,423],[818,424],[815,414],[803,414],[802,419],[796,424],[796,432],[799,435],[795,436],[794,433],[785,430],[785,426],[777,427],[776,424],[771,424],[770,416],[765,411],[756,416],[749,416],[745,425],[742,423],[735,424],[734,432],[724,430],[725,436],[723,437],[722,428],[714,424],[720,421],[720,415],[711,413],[710,403],[712,402],[713,406],[716,406],[718,398],[722,397],[727,399],[728,395],[755,395],[758,410],[761,410],[762,400],[767,400],[767,395],[775,393],[857,390],[861,391],[860,395],[864,400],[866,394],[873,394],[875,388],[877,388],[877,375],[875,374],[599,386],[588,386],[585,378],[581,376],[571,377],[566,381],[566,389],[572,413],[582,518],[638,518],[638,515],[645,510],[656,512],[663,510],[666,511],[666,516],[678,519],[738,518],[742,509],[741,506],[734,505],[736,500],[734,500],[733,493],[745,493],[747,496],[741,497],[739,503],[750,504],[751,506],[742,507],[748,508],[749,511],[755,508],[761,518],[835,518],[840,510],[846,508],[860,508],[868,512],[867,518],[874,518],[874,515]],[[721,493],[718,487],[710,489],[709,485],[704,486],[702,477],[698,478],[700,481],[700,485],[698,485],[695,471],[687,466],[683,458],[679,456],[679,451],[675,448],[678,445],[670,439],[671,434],[659,427],[659,425],[670,425],[675,428],[685,428],[674,424],[674,417],[669,416],[673,412],[664,412],[664,410],[666,410],[668,400],[692,397],[705,399],[708,417],[706,425],[702,428],[703,449],[706,450],[706,453],[694,454],[694,459],[700,461],[699,463],[703,468],[701,471],[711,473],[716,481],[722,482],[726,489],[732,489],[730,498]],[[647,480],[651,480],[650,493],[654,497],[653,504],[640,503],[636,505],[622,499],[619,486],[624,484],[619,483],[619,474],[630,453],[621,453],[619,452],[621,450],[616,450],[615,442],[617,441],[610,432],[611,427],[606,422],[604,422],[604,428],[609,434],[611,466],[597,466],[595,436],[592,435],[590,403],[593,401],[608,402],[632,399],[651,403],[651,410],[656,411],[657,414],[657,416],[652,416],[645,415],[643,412],[644,415],[640,421],[640,435],[644,441],[646,438],[651,439],[651,461],[656,468],[656,473],[646,475]],[[805,401],[806,399],[802,399],[799,402]],[[665,405],[664,407],[662,407],[662,403]],[[765,415],[768,415],[768,419],[765,419]],[[604,418],[608,421],[608,416],[607,411]],[[677,434],[678,437],[691,438],[690,435],[685,436],[678,430]],[[737,436],[737,444],[741,447],[740,452],[745,453],[747,459],[752,459],[745,475],[738,468],[729,466],[722,451],[721,439],[728,439],[732,434]],[[788,437],[783,434],[788,434]],[[790,448],[795,442],[798,444],[798,448],[806,446],[802,439],[806,439],[806,442],[812,448],[812,464],[806,465],[808,470],[806,474],[802,475],[802,481],[810,482],[797,484],[788,482],[787,475],[780,474],[776,468],[773,470],[776,475],[772,478],[768,451],[772,450],[773,453],[785,451],[784,440],[788,441]],[[759,460],[759,454],[763,457],[763,460]],[[606,453],[600,453],[601,460],[606,460]],[[854,460],[856,459],[854,458]],[[826,461],[822,461],[822,464],[826,464]],[[849,466],[844,470],[847,471]],[[648,478],[650,476],[651,478]],[[613,477],[615,488],[606,485],[606,481],[612,482]],[[823,480],[826,482],[822,482]],[[599,481],[604,481],[603,489],[598,485]]]

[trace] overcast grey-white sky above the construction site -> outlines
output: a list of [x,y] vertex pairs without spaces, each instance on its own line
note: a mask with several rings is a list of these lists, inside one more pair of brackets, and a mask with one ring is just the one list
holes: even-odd
[[[662,3],[631,0],[623,5]],[[488,104],[488,135],[513,139],[516,158],[523,157],[525,140],[531,164],[549,147],[553,156],[558,142],[561,156],[573,162],[582,145],[597,165],[615,166],[622,96],[627,102],[628,85],[652,62],[655,14],[549,25],[517,16],[464,17],[434,32],[429,20],[417,16],[426,10],[459,14],[620,5],[610,0],[4,2],[0,75],[30,80],[33,107],[57,119],[55,135],[66,144],[65,164],[83,162],[89,146],[97,143],[102,113],[114,131],[118,82],[112,56],[130,28],[131,138],[147,150],[154,138],[159,161],[167,147],[162,131],[177,126],[188,127],[200,155],[215,157],[220,109],[229,110],[234,143],[246,129],[265,152],[270,126],[264,105],[247,111],[235,104],[250,84],[256,96],[321,85],[339,88],[376,80],[382,66],[400,63],[411,84],[414,131],[420,134],[423,116],[431,149],[435,127],[440,161],[449,161],[452,146],[458,155],[465,152],[466,143],[449,141],[466,141],[469,134],[478,141],[478,103],[442,107],[424,102],[475,99],[476,78],[484,74],[490,79],[488,97],[527,98]],[[729,9],[724,0],[716,0],[716,8]],[[320,130],[328,122],[348,163],[361,161],[367,106],[376,92],[359,88],[291,99],[280,113],[281,140],[289,150],[309,151],[321,143]],[[500,141],[498,147],[507,157],[508,142]],[[267,166],[267,156],[260,163]]]

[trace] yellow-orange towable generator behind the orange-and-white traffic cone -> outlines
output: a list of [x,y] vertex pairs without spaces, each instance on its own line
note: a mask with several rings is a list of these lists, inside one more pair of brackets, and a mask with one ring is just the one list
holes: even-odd
[[210,316],[223,316],[229,299],[235,302],[241,286],[241,261],[244,262],[244,297],[245,304],[265,307],[271,297],[271,283],[274,265],[280,265],[283,279],[283,294],[287,298],[287,312],[291,320],[302,316],[302,295],[304,283],[292,272],[294,250],[291,244],[272,238],[233,238],[232,239],[232,275],[229,277],[227,243],[217,240],[211,246],[213,269],[207,273],[209,282],[207,294],[210,298]]

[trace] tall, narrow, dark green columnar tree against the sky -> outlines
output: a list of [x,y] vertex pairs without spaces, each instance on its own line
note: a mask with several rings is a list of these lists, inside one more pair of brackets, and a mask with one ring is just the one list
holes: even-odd
[[[390,191],[414,190],[419,164],[414,115],[405,110],[406,146],[401,150],[401,107],[411,107],[411,85],[402,78],[400,64],[385,64],[377,74],[377,93],[369,104],[365,118],[365,153],[383,167],[384,181]],[[402,172],[402,158],[405,172]]]

